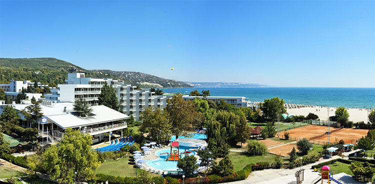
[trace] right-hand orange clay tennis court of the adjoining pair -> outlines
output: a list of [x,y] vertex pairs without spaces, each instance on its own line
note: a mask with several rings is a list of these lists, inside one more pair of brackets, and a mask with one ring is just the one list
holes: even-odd
[[[360,137],[366,135],[368,129],[354,129],[354,128],[343,128],[338,131],[330,133],[329,141],[334,142],[336,139],[337,141],[342,139],[346,144],[355,144],[355,141]],[[319,141],[327,141],[328,135],[324,135],[322,137],[315,138]],[[311,142],[311,141],[310,141]]]

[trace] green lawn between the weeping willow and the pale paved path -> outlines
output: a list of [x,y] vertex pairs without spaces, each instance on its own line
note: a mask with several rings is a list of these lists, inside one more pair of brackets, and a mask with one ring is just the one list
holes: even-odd
[[[241,170],[244,166],[250,163],[256,163],[259,161],[267,161],[269,164],[275,162],[274,161],[274,154],[267,153],[265,155],[261,156],[249,156],[245,153],[240,153],[240,152],[230,152],[229,153],[229,158],[232,161],[234,165],[234,171]],[[287,163],[288,160],[286,158],[280,157],[282,163]]]

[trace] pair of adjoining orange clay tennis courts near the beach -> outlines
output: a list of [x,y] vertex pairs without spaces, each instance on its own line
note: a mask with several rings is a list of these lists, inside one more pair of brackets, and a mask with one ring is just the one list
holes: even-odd
[[[329,130],[335,130],[338,128],[335,127],[330,127]],[[319,134],[324,134],[325,132],[328,131],[327,126],[319,126],[319,125],[307,125],[307,126],[302,126],[298,128],[293,128],[287,130],[289,132],[289,136],[291,137],[291,140],[294,140],[296,137],[296,140],[299,138],[307,138],[309,139],[312,136],[316,136]],[[330,142],[334,142],[335,138],[338,140],[343,139],[345,143],[352,143],[355,144],[355,140],[359,139],[360,137],[366,135],[368,132],[367,129],[354,129],[354,128],[341,128],[337,131],[334,131],[330,134]],[[284,131],[280,132],[280,135],[283,135]],[[311,139],[310,142],[313,143],[319,143],[319,144],[324,144],[327,141],[327,134],[313,138]]]

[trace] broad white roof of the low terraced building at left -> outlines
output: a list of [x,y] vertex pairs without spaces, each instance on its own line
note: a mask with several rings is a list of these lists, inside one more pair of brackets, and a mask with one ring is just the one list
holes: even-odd
[[[126,114],[113,110],[104,105],[91,106],[91,113],[93,115],[87,117],[79,117],[70,113],[72,112],[74,104],[72,102],[58,102],[52,104],[53,106],[40,105],[41,112],[45,117],[47,117],[47,119],[53,121],[61,128],[98,124],[102,122],[124,120],[126,118],[129,118],[129,116],[127,116]],[[29,104],[15,104],[13,108],[22,110],[27,105]],[[66,107],[67,112],[63,111],[64,107]]]

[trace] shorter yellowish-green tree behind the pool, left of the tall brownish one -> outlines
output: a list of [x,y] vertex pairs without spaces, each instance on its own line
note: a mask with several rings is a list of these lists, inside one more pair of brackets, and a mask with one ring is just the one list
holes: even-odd
[[160,108],[145,108],[141,112],[140,119],[143,122],[139,130],[142,132],[146,132],[146,130],[148,130],[153,140],[160,142],[170,139],[171,124],[166,117],[165,112],[163,112]]

